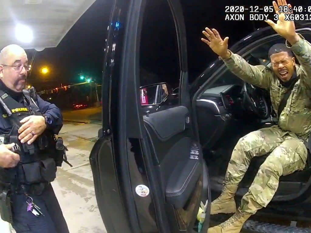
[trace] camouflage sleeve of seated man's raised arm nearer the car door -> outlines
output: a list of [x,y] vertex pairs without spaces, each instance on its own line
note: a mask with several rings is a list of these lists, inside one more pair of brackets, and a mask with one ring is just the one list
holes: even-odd
[[262,65],[252,66],[238,54],[231,53],[230,57],[220,60],[224,61],[229,70],[245,82],[264,89],[270,89],[271,78],[273,77],[271,69]]

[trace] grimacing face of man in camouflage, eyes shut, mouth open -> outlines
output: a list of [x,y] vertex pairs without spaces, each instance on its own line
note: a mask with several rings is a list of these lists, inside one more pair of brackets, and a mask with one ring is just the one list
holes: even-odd
[[295,71],[295,57],[290,57],[287,52],[275,53],[270,56],[274,73],[287,82]]

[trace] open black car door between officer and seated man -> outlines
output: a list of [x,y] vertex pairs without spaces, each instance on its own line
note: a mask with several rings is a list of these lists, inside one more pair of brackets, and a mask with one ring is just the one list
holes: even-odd
[[[147,31],[143,28],[152,27],[149,16],[156,13],[155,18],[172,19],[172,27],[163,23],[162,28],[177,42],[179,101],[144,116],[140,63],[156,55],[141,57]],[[194,232],[197,225],[197,211],[209,187],[188,93],[185,38],[179,1],[114,1],[104,58],[103,127],[90,155],[108,233]],[[165,62],[153,65],[160,70]]]

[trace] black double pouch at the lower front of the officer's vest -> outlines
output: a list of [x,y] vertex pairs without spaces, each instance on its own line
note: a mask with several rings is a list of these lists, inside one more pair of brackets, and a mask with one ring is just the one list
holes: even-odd
[[53,158],[22,165],[25,183],[52,182],[56,178],[56,165]]

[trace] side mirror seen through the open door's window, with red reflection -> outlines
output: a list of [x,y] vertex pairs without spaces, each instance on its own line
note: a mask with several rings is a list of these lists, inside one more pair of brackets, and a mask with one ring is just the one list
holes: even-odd
[[169,92],[166,83],[157,83],[140,87],[140,100],[142,105],[158,105],[165,101]]

